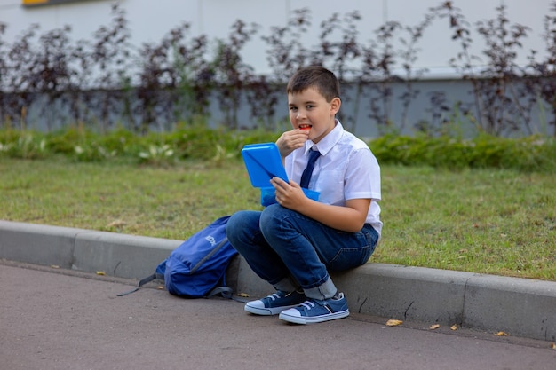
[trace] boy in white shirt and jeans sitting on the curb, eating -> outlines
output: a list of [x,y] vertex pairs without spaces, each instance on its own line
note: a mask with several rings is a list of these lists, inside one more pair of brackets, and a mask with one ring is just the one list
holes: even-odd
[[[373,253],[382,228],[380,168],[369,147],[336,119],[341,101],[334,74],[301,68],[287,93],[293,130],[276,145],[290,183],[274,177],[276,203],[262,212],[235,213],[226,234],[251,269],[276,289],[247,303],[245,311],[280,314],[297,324],[341,319],[349,315],[347,301],[329,270],[365,264]],[[319,201],[307,198],[302,186],[320,192]]]

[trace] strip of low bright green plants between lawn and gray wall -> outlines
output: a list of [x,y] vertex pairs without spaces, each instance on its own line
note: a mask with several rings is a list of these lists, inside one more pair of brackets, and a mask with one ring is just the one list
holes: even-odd
[[[141,164],[170,165],[185,159],[221,165],[240,158],[247,144],[275,141],[280,133],[266,130],[210,129],[197,125],[141,136],[129,130],[99,134],[74,127],[49,134],[32,130],[0,130],[0,155],[38,159],[61,154],[75,161],[115,158]],[[472,139],[385,135],[368,141],[381,164],[431,166],[444,169],[496,168],[525,172],[556,171],[556,140],[545,136]]]

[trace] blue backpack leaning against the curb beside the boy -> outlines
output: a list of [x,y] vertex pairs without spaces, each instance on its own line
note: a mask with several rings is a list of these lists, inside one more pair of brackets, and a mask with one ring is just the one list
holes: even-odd
[[138,287],[119,296],[133,293],[154,279],[162,279],[171,295],[187,298],[222,295],[231,298],[233,291],[226,287],[226,270],[237,251],[226,238],[229,218],[220,217],[195,233],[158,264],[154,274],[141,279]]

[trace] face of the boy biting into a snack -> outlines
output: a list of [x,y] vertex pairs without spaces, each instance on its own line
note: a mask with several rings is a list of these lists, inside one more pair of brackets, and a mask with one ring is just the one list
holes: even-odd
[[334,129],[340,104],[339,98],[326,101],[326,98],[312,87],[298,93],[289,93],[291,125],[294,129],[310,130],[309,138],[318,143]]

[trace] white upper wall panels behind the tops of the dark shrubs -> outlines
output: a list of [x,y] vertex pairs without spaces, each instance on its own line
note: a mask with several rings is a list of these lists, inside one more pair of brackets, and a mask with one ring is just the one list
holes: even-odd
[[[479,20],[496,18],[496,6],[506,4],[508,18],[532,28],[524,42],[518,61],[527,62],[529,51],[544,51],[544,15],[552,0],[455,0],[465,19],[474,24]],[[23,7],[20,0],[0,0],[0,21],[8,25],[4,40],[11,42],[32,23],[39,23],[43,31],[69,24],[75,39],[87,39],[100,25],[109,23],[111,0],[87,0],[69,4]],[[272,26],[284,26],[294,9],[309,8],[313,28],[307,35],[309,46],[318,42],[319,27],[334,12],[345,14],[361,12],[360,42],[366,43],[385,20],[400,21],[404,26],[415,26],[423,20],[425,12],[438,6],[441,0],[121,0],[130,20],[133,43],[157,42],[171,28],[181,22],[190,22],[192,35],[204,34],[210,39],[226,38],[235,20],[261,25],[258,35],[246,46],[244,59],[258,72],[267,72],[266,44],[261,35],[268,35]],[[450,40],[448,20],[436,20],[427,28],[417,47],[415,67],[428,67],[433,71],[451,70],[449,59],[461,51]],[[480,55],[481,36],[473,34],[473,54]]]

